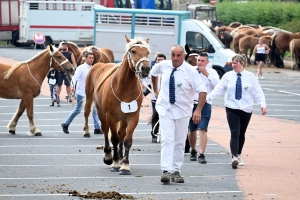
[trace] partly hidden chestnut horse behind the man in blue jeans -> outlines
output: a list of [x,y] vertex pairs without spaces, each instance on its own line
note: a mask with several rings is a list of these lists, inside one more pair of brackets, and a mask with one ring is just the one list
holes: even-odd
[[113,63],[114,62],[114,54],[110,49],[107,48],[97,48],[95,46],[88,46],[85,48],[79,48],[73,42],[67,42],[68,49],[74,54],[77,66],[81,65],[84,62],[84,53],[87,51],[91,51],[94,54],[94,62],[93,65],[98,62],[103,63]]

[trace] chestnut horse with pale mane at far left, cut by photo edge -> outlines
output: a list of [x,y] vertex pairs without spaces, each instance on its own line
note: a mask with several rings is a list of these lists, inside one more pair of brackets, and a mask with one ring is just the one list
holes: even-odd
[[7,125],[11,134],[16,133],[16,126],[24,110],[27,111],[30,133],[41,136],[41,131],[33,121],[33,98],[41,92],[41,85],[50,68],[65,73],[72,73],[72,64],[57,48],[50,45],[32,59],[9,66],[0,63],[0,97],[21,99],[19,108]]

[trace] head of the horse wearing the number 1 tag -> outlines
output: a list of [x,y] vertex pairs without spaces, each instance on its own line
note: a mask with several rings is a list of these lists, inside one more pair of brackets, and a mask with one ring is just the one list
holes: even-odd
[[129,39],[126,35],[126,53],[129,67],[135,72],[137,78],[145,78],[150,72],[150,61],[148,56],[150,47],[149,39],[142,38]]

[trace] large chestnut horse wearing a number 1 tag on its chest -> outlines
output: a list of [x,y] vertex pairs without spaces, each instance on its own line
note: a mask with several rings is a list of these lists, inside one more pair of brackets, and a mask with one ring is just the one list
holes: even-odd
[[120,175],[131,174],[129,150],[143,101],[140,80],[150,72],[148,39],[125,37],[127,44],[123,61],[119,64],[97,63],[87,75],[83,127],[84,134],[89,134],[88,116],[94,102],[105,138],[103,161],[107,165],[112,164],[111,171],[119,171]]

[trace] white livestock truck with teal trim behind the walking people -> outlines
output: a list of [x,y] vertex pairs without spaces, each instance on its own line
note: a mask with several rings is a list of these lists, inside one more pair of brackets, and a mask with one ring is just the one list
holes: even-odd
[[[117,62],[123,59],[125,35],[149,38],[150,59],[160,52],[170,59],[170,49],[175,44],[189,44],[193,49],[208,48],[213,68],[222,76],[232,70],[231,58],[235,55],[222,44],[201,21],[189,19],[188,11],[162,11],[94,7],[94,45],[110,48]],[[196,36],[197,35],[197,39]]]

